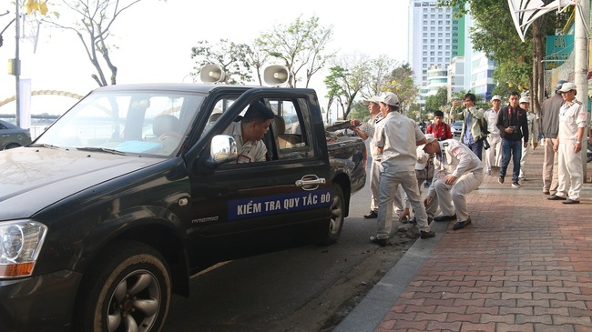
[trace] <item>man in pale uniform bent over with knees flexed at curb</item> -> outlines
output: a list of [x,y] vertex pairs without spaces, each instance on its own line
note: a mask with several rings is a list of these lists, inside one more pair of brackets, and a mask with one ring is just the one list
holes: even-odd
[[424,151],[436,156],[434,179],[424,199],[430,211],[435,210],[434,200],[440,206],[441,214],[434,217],[434,222],[457,220],[454,230],[471,224],[466,196],[483,182],[481,160],[471,148],[455,139],[442,142],[428,140]]

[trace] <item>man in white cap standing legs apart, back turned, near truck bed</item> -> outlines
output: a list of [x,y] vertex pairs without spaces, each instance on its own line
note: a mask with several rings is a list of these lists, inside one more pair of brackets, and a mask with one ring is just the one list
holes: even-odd
[[383,93],[380,100],[384,119],[374,133],[374,144],[383,154],[381,166],[383,173],[380,181],[378,203],[378,229],[376,236],[371,236],[373,243],[386,246],[393,226],[393,196],[396,186],[403,190],[413,210],[420,230],[421,238],[434,237],[427,223],[425,208],[421,202],[417,178],[415,177],[416,146],[426,142],[424,133],[415,121],[399,113],[399,97],[393,93]]

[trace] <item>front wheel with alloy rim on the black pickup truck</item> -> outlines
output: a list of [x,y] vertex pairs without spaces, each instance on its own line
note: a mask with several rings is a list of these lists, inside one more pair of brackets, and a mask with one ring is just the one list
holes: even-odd
[[170,307],[170,272],[156,249],[119,242],[92,263],[79,290],[77,331],[160,331]]

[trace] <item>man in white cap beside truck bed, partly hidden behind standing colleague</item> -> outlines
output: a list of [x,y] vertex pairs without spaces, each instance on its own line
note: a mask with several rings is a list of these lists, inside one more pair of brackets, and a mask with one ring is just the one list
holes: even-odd
[[[380,97],[372,96],[368,99],[364,99],[363,103],[368,106],[372,118],[368,122],[362,123],[358,119],[350,120],[350,129],[353,130],[363,140],[370,137],[370,154],[372,156],[372,164],[370,166],[370,212],[363,217],[366,219],[373,219],[378,216],[378,196],[379,196],[379,184],[381,179],[381,157],[382,154],[378,153],[378,149],[374,145],[374,129],[381,120],[383,120],[383,114],[379,105]],[[398,215],[403,211],[403,188],[398,187],[397,192],[393,197],[393,207],[395,213]]]

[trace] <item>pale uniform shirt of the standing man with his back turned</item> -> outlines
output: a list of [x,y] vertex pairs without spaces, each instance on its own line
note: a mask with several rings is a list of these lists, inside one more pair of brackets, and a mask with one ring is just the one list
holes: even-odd
[[383,147],[382,162],[388,163],[393,172],[415,171],[417,141],[425,138],[415,121],[390,112],[378,123],[374,133],[374,144]]

